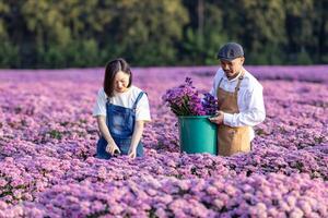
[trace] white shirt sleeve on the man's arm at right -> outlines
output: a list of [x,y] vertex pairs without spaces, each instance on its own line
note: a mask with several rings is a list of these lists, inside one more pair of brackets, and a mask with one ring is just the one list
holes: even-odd
[[262,86],[257,85],[245,95],[246,110],[239,113],[224,113],[223,122],[230,126],[254,126],[266,119]]

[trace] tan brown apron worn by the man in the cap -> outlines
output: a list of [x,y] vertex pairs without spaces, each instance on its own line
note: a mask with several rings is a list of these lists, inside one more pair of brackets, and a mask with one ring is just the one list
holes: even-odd
[[[226,113],[238,113],[238,90],[244,78],[244,73],[238,78],[234,93],[229,93],[218,86],[219,110]],[[239,152],[250,150],[249,126],[231,128],[220,124],[218,129],[218,153],[222,156],[231,156]]]

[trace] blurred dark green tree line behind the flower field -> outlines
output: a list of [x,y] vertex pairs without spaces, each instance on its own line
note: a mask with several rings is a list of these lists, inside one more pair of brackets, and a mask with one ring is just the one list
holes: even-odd
[[0,68],[328,63],[327,0],[0,0]]

